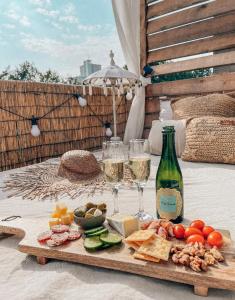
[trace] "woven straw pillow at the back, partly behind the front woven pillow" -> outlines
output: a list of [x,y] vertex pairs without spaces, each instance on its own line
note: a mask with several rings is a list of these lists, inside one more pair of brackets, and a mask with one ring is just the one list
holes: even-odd
[[225,94],[187,97],[172,101],[173,119],[203,116],[235,117],[235,99]]

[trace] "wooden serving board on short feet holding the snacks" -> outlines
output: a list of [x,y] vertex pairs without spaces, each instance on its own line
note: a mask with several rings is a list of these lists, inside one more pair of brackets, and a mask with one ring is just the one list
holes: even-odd
[[45,264],[48,258],[52,258],[181,282],[194,286],[194,293],[200,296],[207,296],[208,288],[235,290],[235,253],[228,238],[228,231],[223,233],[228,240],[223,249],[225,263],[210,267],[207,272],[196,273],[171,262],[152,263],[134,259],[131,256],[132,250],[124,243],[94,253],[84,249],[82,238],[66,245],[49,248],[37,241],[38,234],[46,230],[48,219],[22,218],[0,222],[0,233],[22,237],[18,245],[19,251],[36,256],[40,264]]

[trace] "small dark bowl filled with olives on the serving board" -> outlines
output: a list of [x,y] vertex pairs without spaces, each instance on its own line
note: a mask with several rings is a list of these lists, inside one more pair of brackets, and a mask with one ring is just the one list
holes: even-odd
[[106,218],[107,207],[105,203],[94,204],[88,202],[74,210],[74,222],[83,229],[101,226]]

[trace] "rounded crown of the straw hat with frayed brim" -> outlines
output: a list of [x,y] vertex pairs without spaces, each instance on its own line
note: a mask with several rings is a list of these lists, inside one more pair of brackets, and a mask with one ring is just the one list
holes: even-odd
[[69,181],[90,180],[100,173],[100,166],[89,151],[72,150],[61,157],[58,175]]

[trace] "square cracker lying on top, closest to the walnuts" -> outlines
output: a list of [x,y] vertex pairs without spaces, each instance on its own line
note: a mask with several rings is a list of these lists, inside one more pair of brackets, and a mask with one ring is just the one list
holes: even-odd
[[159,235],[155,239],[145,241],[139,248],[138,252],[168,261],[172,243]]

